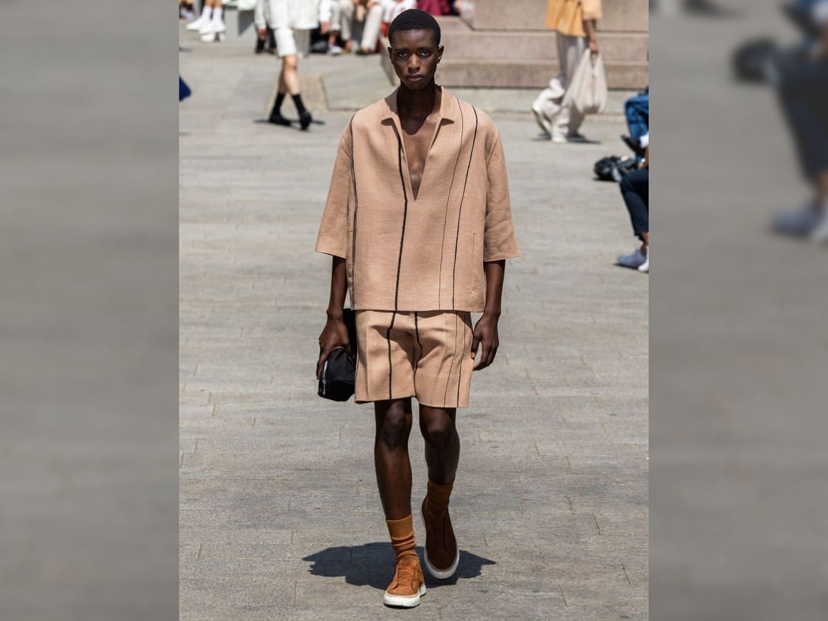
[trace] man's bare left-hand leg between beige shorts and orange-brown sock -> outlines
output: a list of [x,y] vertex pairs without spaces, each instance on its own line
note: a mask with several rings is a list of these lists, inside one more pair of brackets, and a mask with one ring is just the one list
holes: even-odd
[[374,416],[377,435],[373,443],[373,464],[379,498],[383,501],[386,519],[402,519],[412,513],[412,465],[408,459],[411,397],[375,402]]

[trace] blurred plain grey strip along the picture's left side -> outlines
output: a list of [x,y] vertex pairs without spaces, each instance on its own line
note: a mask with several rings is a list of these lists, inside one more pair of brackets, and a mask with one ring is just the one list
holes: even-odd
[[174,8],[2,14],[0,619],[176,619]]

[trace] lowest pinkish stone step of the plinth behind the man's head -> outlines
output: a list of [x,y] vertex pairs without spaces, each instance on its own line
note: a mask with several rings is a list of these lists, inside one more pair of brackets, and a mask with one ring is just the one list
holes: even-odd
[[[610,89],[643,89],[647,63],[640,60],[605,61]],[[557,75],[557,60],[479,60],[448,58],[440,62],[436,79],[448,87],[543,89]]]

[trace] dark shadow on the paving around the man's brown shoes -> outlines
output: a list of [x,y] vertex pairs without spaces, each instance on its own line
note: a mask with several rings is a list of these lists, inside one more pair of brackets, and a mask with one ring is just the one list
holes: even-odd
[[[422,561],[422,546],[417,546],[417,553]],[[323,575],[328,578],[344,576],[345,582],[354,586],[373,586],[374,589],[386,589],[392,578],[394,567],[394,552],[388,542],[366,543],[363,546],[337,546],[315,552],[306,556],[302,561],[310,562],[308,571],[313,575]],[[448,580],[434,580],[428,571],[426,585],[431,588],[440,585],[454,585],[463,578],[476,578],[480,575],[484,565],[495,565],[482,556],[460,550],[460,565],[455,575]]]

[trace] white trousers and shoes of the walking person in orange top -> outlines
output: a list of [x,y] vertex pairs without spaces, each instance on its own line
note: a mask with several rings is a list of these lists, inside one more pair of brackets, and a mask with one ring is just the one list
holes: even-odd
[[556,40],[561,73],[551,79],[549,88],[543,89],[537,96],[533,107],[540,109],[549,119],[553,136],[572,136],[578,133],[584,123],[584,115],[569,102],[565,102],[564,98],[589,41],[585,36],[562,35],[560,32],[556,33]]

